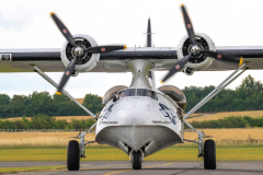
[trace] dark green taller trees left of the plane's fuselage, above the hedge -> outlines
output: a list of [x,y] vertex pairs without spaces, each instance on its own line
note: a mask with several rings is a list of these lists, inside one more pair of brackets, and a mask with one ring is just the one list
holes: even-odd
[[[102,98],[87,94],[83,106],[92,113],[101,112]],[[48,92],[33,92],[30,95],[0,94],[0,118],[32,117],[38,114],[47,116],[87,116],[88,114],[65,95],[50,95]]]

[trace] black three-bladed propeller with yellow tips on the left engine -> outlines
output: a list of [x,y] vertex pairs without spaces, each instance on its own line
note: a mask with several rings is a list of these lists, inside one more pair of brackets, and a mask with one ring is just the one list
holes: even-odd
[[89,47],[83,49],[82,47],[79,47],[75,43],[73,36],[70,34],[69,30],[64,25],[64,23],[57,18],[57,15],[52,12],[50,16],[53,18],[54,22],[58,26],[61,34],[65,36],[65,38],[70,43],[72,46],[75,46],[75,56],[73,59],[69,62],[68,67],[65,69],[65,73],[62,75],[62,79],[58,85],[57,95],[61,95],[61,91],[65,86],[65,84],[68,82],[69,77],[72,74],[77,59],[83,55],[84,52],[91,52],[91,54],[101,54],[101,52],[108,52],[119,49],[126,49],[126,45],[108,45],[108,46],[95,46],[95,47]]

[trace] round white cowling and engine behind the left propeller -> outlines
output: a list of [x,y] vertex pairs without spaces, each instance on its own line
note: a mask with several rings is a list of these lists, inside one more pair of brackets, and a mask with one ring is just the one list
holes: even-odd
[[[89,35],[77,34],[77,35],[73,35],[73,38],[76,40],[76,45],[82,47],[83,49],[88,47],[98,46],[95,39],[93,39]],[[75,50],[75,47],[66,40],[60,51],[60,57],[65,67],[68,67],[71,59],[73,59],[73,50]],[[100,54],[91,54],[91,52],[83,54],[77,60],[77,63],[75,66],[75,71],[77,72],[73,74],[78,75],[78,72],[88,72],[92,70],[98,65],[99,60],[100,60]]]

